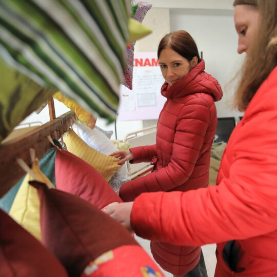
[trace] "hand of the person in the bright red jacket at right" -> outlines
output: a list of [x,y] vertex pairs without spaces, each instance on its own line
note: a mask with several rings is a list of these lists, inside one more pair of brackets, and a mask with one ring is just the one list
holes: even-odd
[[105,209],[103,209],[103,211],[132,232],[130,221],[132,207],[133,202],[126,202],[108,205]]

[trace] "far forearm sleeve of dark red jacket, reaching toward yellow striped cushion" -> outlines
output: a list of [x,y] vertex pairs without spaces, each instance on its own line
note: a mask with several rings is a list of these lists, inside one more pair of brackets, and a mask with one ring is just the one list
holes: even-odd
[[131,164],[151,162],[153,157],[156,156],[156,145],[138,146],[129,149],[134,159],[130,161]]

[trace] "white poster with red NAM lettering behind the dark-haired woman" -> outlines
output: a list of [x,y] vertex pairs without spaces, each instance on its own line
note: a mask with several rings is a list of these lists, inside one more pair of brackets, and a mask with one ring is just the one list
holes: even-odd
[[153,120],[159,117],[166,98],[161,95],[164,78],[156,52],[135,52],[133,89],[121,86],[118,120]]

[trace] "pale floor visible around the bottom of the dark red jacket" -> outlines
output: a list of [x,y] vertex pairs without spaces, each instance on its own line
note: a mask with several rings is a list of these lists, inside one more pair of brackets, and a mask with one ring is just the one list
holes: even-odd
[[[150,242],[147,240],[144,240],[142,238],[139,238],[138,236],[135,236],[136,241],[147,251],[147,253],[152,257],[151,251],[150,251]],[[202,247],[206,268],[208,272],[208,277],[214,276],[214,269],[216,264],[216,258],[215,258],[215,244],[208,244]],[[162,270],[162,269],[161,269]],[[167,271],[162,270],[165,277],[172,277],[172,274],[170,274]]]

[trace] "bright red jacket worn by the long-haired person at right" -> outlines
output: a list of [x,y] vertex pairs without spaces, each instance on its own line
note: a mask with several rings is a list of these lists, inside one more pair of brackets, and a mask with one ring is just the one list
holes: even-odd
[[276,80],[277,67],[230,136],[218,186],[138,196],[131,213],[138,235],[182,245],[217,243],[216,277],[277,276]]

